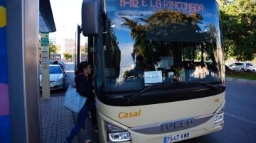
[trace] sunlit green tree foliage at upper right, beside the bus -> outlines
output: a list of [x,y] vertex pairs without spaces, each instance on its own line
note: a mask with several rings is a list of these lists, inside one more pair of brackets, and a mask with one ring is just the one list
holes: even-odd
[[226,58],[256,57],[256,1],[234,0],[220,8]]

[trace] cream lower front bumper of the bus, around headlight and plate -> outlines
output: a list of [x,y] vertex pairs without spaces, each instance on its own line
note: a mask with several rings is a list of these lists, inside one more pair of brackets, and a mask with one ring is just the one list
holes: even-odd
[[[224,103],[220,108],[224,107]],[[110,122],[112,125],[117,125],[118,127],[122,127],[122,129],[127,130],[130,132],[132,136],[131,142],[124,142],[124,143],[163,143],[164,137],[168,137],[171,135],[178,135],[185,132],[191,132],[191,138],[194,137],[200,137],[203,135],[207,135],[213,132],[218,132],[223,129],[224,120],[221,122],[215,123],[215,115],[207,120],[206,122],[201,123],[200,125],[184,129],[184,130],[178,130],[173,132],[165,132],[161,134],[144,134],[139,132],[134,132],[129,127],[126,127],[122,124],[119,124],[119,122],[116,122],[107,116],[103,115],[99,110],[97,110],[97,120],[98,120],[98,127],[99,127],[99,137],[100,142],[107,143],[107,132],[105,130],[105,122]],[[190,139],[191,139],[190,138]]]

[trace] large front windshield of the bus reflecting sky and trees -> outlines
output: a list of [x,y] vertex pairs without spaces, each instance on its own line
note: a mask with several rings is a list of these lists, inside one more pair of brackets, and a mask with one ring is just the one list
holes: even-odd
[[137,91],[156,83],[224,84],[215,1],[106,0],[102,19],[101,91]]

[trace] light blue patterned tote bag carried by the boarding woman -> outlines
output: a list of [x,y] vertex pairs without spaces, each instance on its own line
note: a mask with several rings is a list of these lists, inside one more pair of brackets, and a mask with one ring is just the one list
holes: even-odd
[[82,107],[85,105],[86,99],[86,97],[80,96],[80,94],[76,91],[76,88],[70,86],[68,91],[65,93],[63,106],[68,110],[79,113]]

